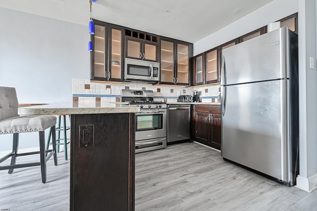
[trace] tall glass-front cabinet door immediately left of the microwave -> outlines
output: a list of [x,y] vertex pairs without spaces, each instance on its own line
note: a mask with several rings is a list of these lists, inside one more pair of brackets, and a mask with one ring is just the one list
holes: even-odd
[[122,57],[122,29],[111,28],[111,45],[110,53],[111,60],[109,64],[109,75],[110,79],[121,79],[122,68],[123,68],[123,57]]

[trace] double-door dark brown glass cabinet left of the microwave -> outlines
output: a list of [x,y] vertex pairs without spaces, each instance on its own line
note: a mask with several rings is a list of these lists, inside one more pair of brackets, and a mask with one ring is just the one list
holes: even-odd
[[123,81],[123,28],[98,20],[94,20],[94,23],[90,78],[98,81]]

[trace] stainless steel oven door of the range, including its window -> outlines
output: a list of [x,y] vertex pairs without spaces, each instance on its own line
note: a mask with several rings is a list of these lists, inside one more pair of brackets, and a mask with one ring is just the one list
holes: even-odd
[[135,114],[135,140],[166,137],[166,109],[142,109]]

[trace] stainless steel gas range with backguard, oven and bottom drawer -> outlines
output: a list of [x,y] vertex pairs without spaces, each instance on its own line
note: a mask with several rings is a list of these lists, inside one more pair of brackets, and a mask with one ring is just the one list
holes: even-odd
[[126,106],[139,106],[135,114],[135,152],[166,148],[167,106],[154,102],[152,90],[122,90],[121,102]]

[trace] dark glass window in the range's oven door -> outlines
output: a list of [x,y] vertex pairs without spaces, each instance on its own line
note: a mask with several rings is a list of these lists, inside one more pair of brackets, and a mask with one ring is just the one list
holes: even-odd
[[136,131],[163,129],[163,114],[136,115]]

